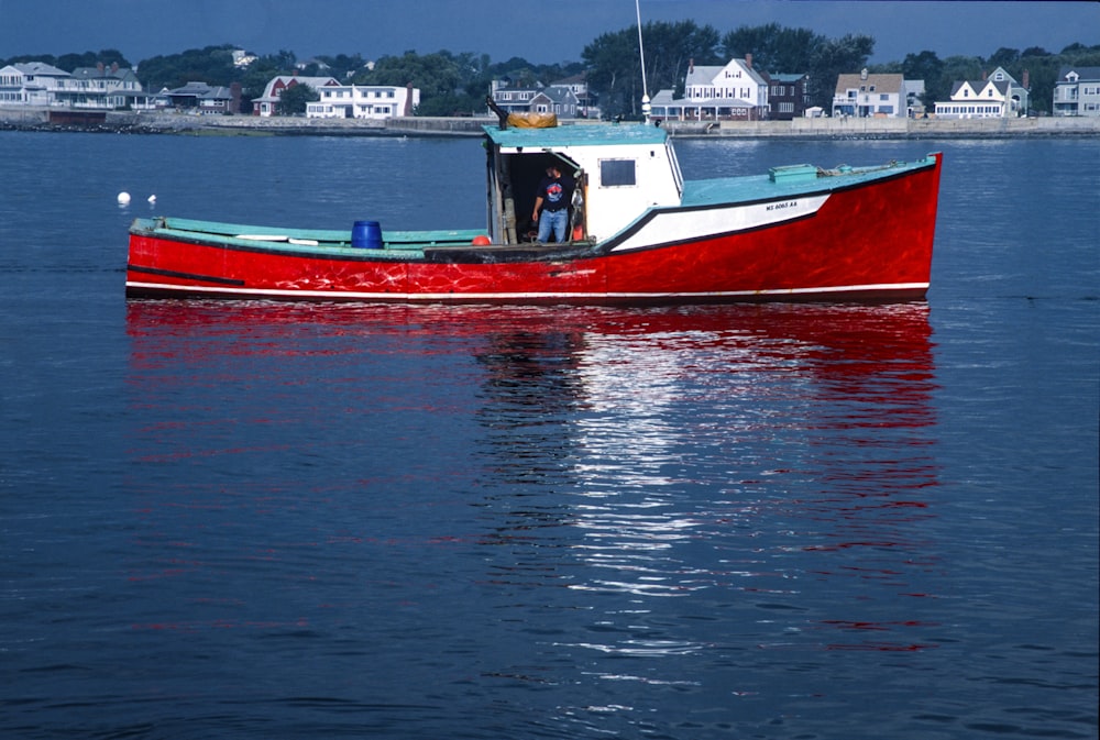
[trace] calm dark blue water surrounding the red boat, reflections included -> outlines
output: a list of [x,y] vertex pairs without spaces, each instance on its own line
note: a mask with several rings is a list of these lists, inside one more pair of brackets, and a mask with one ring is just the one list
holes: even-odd
[[0,737],[1096,738],[1100,141],[679,148],[943,150],[927,302],[128,303],[481,146],[0,133]]

